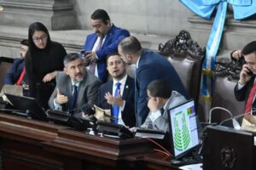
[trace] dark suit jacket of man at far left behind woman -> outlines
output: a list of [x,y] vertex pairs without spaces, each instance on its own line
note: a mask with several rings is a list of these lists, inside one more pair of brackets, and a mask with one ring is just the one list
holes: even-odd
[[[4,84],[13,85],[20,77],[21,72],[25,66],[25,61],[23,59],[15,59],[9,72],[5,75],[3,79]],[[23,81],[26,82],[26,74],[23,77]]]

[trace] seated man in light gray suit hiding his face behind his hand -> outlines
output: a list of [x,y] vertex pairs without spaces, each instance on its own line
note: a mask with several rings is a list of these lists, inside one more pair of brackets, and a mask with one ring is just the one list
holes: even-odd
[[148,108],[150,110],[142,128],[169,130],[167,111],[176,105],[183,104],[187,99],[177,91],[171,90],[164,80],[154,80],[147,87]]

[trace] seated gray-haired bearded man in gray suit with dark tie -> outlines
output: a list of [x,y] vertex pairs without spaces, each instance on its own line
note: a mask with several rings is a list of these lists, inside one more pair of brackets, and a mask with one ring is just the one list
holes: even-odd
[[101,81],[84,67],[79,54],[67,54],[64,71],[58,72],[56,86],[48,105],[50,109],[81,113],[95,105]]

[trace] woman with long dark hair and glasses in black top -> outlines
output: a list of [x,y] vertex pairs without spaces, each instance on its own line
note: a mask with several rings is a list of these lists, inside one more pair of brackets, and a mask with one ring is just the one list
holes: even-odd
[[26,54],[26,75],[29,95],[48,109],[48,99],[55,88],[57,71],[63,71],[63,59],[67,55],[59,42],[52,42],[47,28],[39,22],[28,30],[29,51]]

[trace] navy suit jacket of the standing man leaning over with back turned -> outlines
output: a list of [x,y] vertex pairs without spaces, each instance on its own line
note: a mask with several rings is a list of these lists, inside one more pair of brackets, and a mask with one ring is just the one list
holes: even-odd
[[172,64],[162,55],[152,51],[143,50],[136,70],[136,116],[137,127],[140,127],[148,116],[147,86],[149,82],[157,79],[166,80],[172,90],[189,99],[188,92]]

